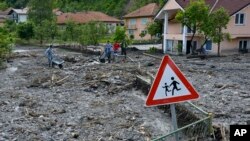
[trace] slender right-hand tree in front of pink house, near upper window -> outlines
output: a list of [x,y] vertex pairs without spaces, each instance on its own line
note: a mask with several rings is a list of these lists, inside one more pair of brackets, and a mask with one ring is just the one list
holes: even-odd
[[227,28],[227,24],[230,20],[229,14],[224,8],[220,8],[210,15],[210,20],[212,23],[211,28],[211,38],[214,42],[218,44],[218,56],[220,56],[220,43],[226,38],[229,39],[229,33],[223,33],[222,29]]

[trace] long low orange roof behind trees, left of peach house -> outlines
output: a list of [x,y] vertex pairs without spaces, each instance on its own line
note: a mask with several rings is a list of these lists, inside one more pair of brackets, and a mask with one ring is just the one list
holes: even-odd
[[113,22],[119,23],[120,20],[108,16],[101,12],[96,11],[86,11],[86,12],[77,12],[77,13],[63,13],[57,16],[58,24],[66,24],[68,21],[73,21],[75,23],[88,23],[90,21],[99,21],[99,22]]

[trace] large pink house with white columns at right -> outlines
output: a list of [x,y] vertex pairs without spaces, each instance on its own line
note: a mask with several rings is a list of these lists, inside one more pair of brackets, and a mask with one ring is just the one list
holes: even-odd
[[[223,32],[231,34],[230,41],[221,42],[221,51],[250,49],[250,1],[249,0],[205,0],[210,10],[224,7],[229,15],[230,21],[227,29]],[[179,10],[184,10],[190,0],[168,0],[164,7],[158,12],[155,19],[164,20],[163,52],[176,53],[179,45],[182,46],[182,53],[190,54],[190,44],[199,48],[202,44],[202,37],[196,35],[191,43],[192,33],[186,26],[182,26],[175,19]],[[216,53],[217,44],[211,40],[204,46],[207,52]]]

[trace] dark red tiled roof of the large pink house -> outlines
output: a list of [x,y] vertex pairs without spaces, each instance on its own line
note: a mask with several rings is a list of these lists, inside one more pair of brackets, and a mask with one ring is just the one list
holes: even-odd
[[[176,2],[185,8],[190,3],[190,0],[176,0]],[[214,10],[224,7],[229,12],[229,15],[235,14],[250,4],[250,0],[218,0],[217,3],[216,0],[205,0],[205,2],[210,5],[211,8],[216,4]]]

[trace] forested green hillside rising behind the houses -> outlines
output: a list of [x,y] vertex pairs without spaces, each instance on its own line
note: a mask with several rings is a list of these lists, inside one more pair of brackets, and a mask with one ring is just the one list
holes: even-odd
[[[64,12],[77,12],[83,10],[102,11],[111,16],[120,18],[148,3],[156,2],[160,5],[165,0],[54,0],[54,8],[59,8]],[[0,9],[8,7],[24,8],[29,0],[0,0]],[[42,3],[43,1],[40,0]]]

